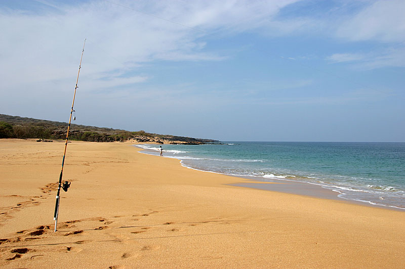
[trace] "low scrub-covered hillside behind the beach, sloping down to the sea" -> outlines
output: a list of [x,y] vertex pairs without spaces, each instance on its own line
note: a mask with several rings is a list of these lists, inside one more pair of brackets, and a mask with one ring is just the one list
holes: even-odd
[[[41,138],[66,139],[68,123],[22,118],[0,114],[0,138]],[[199,139],[192,137],[160,135],[145,131],[126,131],[120,129],[71,124],[69,140],[94,142],[126,141],[156,142],[165,144],[206,144],[216,143],[217,140]]]

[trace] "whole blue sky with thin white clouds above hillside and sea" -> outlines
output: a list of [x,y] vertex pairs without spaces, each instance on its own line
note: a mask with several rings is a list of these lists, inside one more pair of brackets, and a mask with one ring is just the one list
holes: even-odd
[[0,1],[0,114],[221,141],[405,141],[405,1]]

